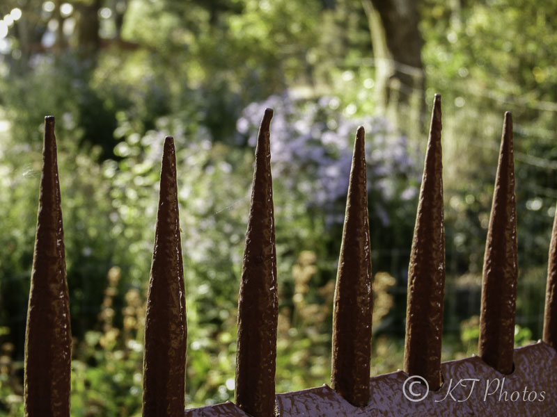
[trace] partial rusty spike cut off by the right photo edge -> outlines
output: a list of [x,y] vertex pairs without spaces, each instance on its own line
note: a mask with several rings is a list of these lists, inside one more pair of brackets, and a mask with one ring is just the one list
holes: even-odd
[[555,211],[547,262],[543,341],[557,349],[557,210]]

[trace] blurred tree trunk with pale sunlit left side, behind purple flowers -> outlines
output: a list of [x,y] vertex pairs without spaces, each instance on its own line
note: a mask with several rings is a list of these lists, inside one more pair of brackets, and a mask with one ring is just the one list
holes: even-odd
[[[419,0],[362,0],[376,63],[379,110],[409,135],[421,132],[425,77]],[[417,129],[416,129],[417,128]]]

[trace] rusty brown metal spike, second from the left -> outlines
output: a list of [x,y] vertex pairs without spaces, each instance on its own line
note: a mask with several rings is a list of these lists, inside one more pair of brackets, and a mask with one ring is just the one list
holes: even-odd
[[182,416],[185,400],[186,303],[176,155],[167,136],[147,296],[143,416]]

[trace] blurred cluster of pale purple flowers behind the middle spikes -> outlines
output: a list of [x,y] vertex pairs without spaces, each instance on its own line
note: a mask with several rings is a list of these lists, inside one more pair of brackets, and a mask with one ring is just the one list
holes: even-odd
[[[382,117],[343,117],[337,97],[298,99],[290,92],[273,95],[252,103],[237,120],[237,131],[256,145],[258,126],[265,107],[274,109],[271,124],[271,152],[275,174],[288,188],[304,193],[309,204],[343,208],[352,147],[357,127],[366,129],[366,161],[368,191],[375,199],[373,206],[382,222],[389,222],[386,203],[393,199],[408,200],[418,189],[409,186],[416,179],[416,151]],[[331,211],[331,213],[334,211]],[[338,211],[342,213],[342,211]],[[342,221],[335,215],[332,221]]]

